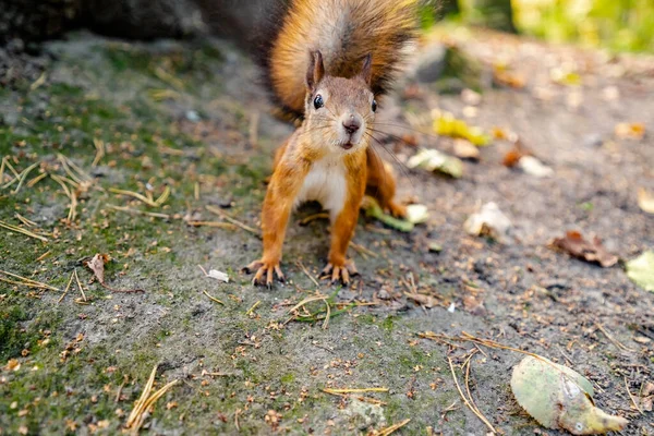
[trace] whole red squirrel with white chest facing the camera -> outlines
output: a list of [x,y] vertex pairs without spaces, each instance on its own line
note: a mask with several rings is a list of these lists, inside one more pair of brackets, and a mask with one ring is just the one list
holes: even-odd
[[291,0],[263,55],[281,108],[302,124],[277,150],[262,211],[264,253],[244,270],[253,283],[283,281],[280,262],[293,209],[317,201],[329,210],[331,243],[323,270],[331,282],[356,275],[346,252],[367,193],[397,217],[390,166],[372,148],[377,99],[391,84],[425,0]]

